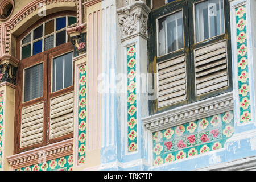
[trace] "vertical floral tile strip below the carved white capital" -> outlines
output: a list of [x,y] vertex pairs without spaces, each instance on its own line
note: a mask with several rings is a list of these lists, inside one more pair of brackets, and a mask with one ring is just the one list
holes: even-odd
[[137,151],[136,47],[127,48],[128,152]]

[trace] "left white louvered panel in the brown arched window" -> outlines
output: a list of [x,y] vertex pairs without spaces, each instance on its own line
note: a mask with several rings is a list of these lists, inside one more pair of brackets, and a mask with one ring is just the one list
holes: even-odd
[[43,142],[43,116],[43,102],[22,109],[21,147]]

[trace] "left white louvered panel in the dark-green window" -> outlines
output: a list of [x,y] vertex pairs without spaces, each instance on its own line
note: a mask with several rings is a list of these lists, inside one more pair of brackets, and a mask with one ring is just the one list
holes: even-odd
[[185,56],[158,64],[158,107],[187,100]]

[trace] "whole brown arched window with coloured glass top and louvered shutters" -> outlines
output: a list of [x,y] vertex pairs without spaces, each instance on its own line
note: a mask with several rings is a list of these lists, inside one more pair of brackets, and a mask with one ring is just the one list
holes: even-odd
[[73,137],[73,26],[76,13],[64,11],[17,38],[15,153]]

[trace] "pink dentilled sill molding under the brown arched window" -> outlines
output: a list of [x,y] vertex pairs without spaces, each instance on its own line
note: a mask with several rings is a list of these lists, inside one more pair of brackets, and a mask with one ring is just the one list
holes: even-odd
[[6,159],[13,169],[19,169],[72,154],[73,138],[8,156]]

